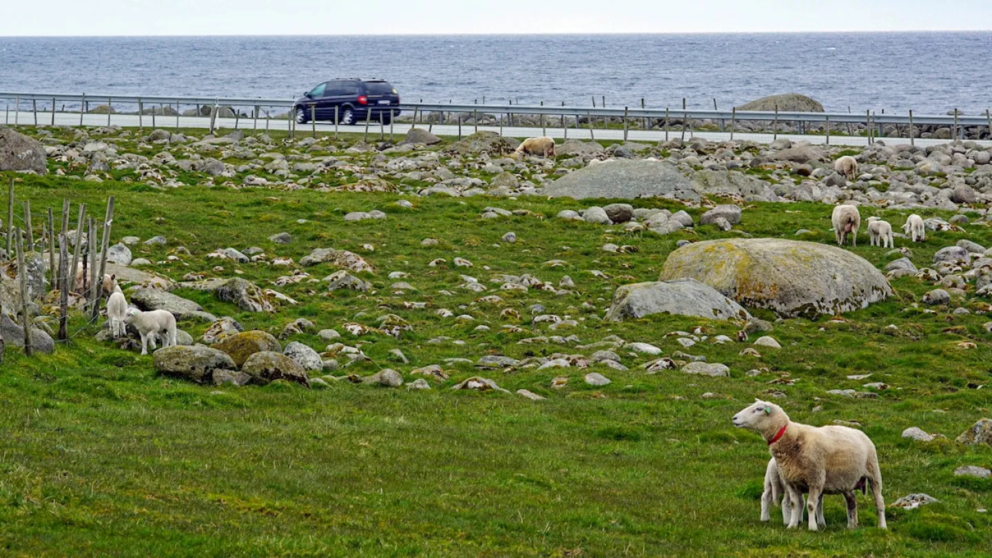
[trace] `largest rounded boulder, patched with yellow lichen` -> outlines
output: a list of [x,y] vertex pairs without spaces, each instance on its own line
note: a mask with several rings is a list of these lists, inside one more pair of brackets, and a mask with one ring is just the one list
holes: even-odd
[[892,295],[885,276],[846,250],[780,238],[731,238],[682,246],[661,280],[692,278],[749,308],[807,318],[865,308]]

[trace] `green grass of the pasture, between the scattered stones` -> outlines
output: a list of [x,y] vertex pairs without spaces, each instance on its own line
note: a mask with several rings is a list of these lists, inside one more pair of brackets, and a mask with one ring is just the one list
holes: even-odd
[[[343,143],[343,140],[342,140]],[[279,147],[274,149],[284,150]],[[53,163],[53,168],[62,168]],[[474,173],[474,171],[473,171]],[[476,174],[473,176],[484,177]],[[0,180],[11,175],[0,173]],[[372,359],[346,369],[370,374],[382,367],[405,373],[439,363],[451,378],[431,391],[407,391],[333,382],[328,389],[299,386],[198,386],[158,376],[150,356],[93,341],[96,330],[73,319],[72,341],[52,355],[27,358],[8,348],[0,370],[0,554],[9,556],[987,556],[992,520],[987,507],[992,486],[955,479],[961,465],[992,462],[989,448],[961,447],[948,441],[922,444],[900,433],[919,426],[953,439],[982,416],[989,416],[988,316],[952,316],[946,308],[928,314],[913,308],[931,285],[914,278],[894,283],[897,297],[845,315],[842,324],[789,320],[771,333],[785,349],[759,348],[761,357],[741,355],[742,344],[701,343],[690,349],[709,361],[724,362],[729,378],[706,378],[663,371],[648,375],[648,358],[618,350],[630,371],[593,366],[613,382],[592,388],[585,370],[523,368],[479,371],[470,364],[443,364],[444,358],[473,362],[483,354],[516,358],[553,353],[588,354],[550,343],[518,344],[537,336],[576,335],[583,344],[609,335],[647,342],[666,354],[682,349],[666,334],[701,327],[708,336],[733,337],[738,326],[684,317],[652,317],[622,324],[596,319],[614,289],[655,280],[666,255],[680,239],[733,235],[712,226],[669,236],[625,234],[618,227],[565,222],[560,209],[590,204],[471,198],[412,199],[401,209],[396,195],[334,194],[313,190],[192,186],[150,188],[134,182],[82,183],[69,178],[18,176],[20,199],[32,207],[61,207],[62,198],[101,208],[116,197],[113,236],[165,235],[165,247],[133,247],[135,257],[164,261],[185,246],[191,256],[155,266],[173,278],[188,272],[242,277],[301,301],[273,315],[247,314],[210,295],[180,290],[216,315],[230,315],[246,329],[279,335],[298,317],[317,329],[334,328],[349,345],[365,343]],[[206,177],[188,174],[200,185]],[[327,175],[346,184],[349,177]],[[133,180],[133,179],[132,179]],[[223,181],[216,180],[216,184]],[[480,219],[487,206],[529,209],[535,215]],[[637,207],[678,207],[638,201]],[[345,223],[351,210],[382,209],[386,220]],[[788,211],[786,210],[788,209]],[[102,209],[100,209],[102,210]],[[688,209],[698,217],[701,209]],[[893,223],[904,216],[878,212]],[[927,212],[930,214],[945,213]],[[759,204],[744,211],[738,227],[756,236],[831,242],[828,207],[815,204]],[[542,218],[543,216],[543,218]],[[297,219],[310,222],[298,224]],[[912,245],[923,267],[932,253],[958,238],[992,244],[992,231],[930,234]],[[515,231],[516,244],[500,237]],[[288,246],[271,243],[276,232],[293,234]],[[421,246],[425,237],[433,247]],[[862,240],[864,240],[862,238]],[[631,254],[600,250],[606,242],[632,244]],[[369,252],[363,244],[373,244]],[[866,244],[867,242],[865,242]],[[905,242],[900,242],[905,245]],[[205,258],[220,247],[260,246],[270,256],[299,260],[316,247],[360,253],[376,267],[363,277],[374,292],[322,296],[321,285],[306,281],[288,287],[271,282],[291,269],[264,263],[234,265]],[[880,248],[853,250],[877,266],[887,258]],[[455,256],[472,268],[451,265]],[[446,266],[428,267],[437,257]],[[564,260],[563,267],[546,262]],[[211,271],[222,265],[223,272]],[[489,266],[489,269],[483,269]],[[317,279],[333,269],[305,268]],[[609,279],[594,277],[600,270]],[[418,291],[395,295],[391,271]],[[493,290],[475,294],[457,289],[459,274],[497,289],[489,278],[531,273],[558,284],[563,275],[576,284],[571,295],[539,290]],[[440,294],[447,290],[450,296]],[[501,304],[475,304],[489,294]],[[404,302],[427,302],[406,310]],[[582,307],[595,306],[595,311]],[[529,307],[571,316],[579,327],[558,332],[532,326]],[[980,310],[983,301],[966,306]],[[447,308],[470,314],[462,324],[434,314]],[[525,318],[501,316],[504,308]],[[408,320],[414,332],[401,340],[387,336],[352,339],[340,326],[374,326],[384,314]],[[762,314],[762,313],[758,313]],[[767,316],[766,316],[767,317]],[[485,324],[489,332],[475,331]],[[893,332],[890,324],[898,326]],[[507,333],[516,325],[524,333]],[[205,324],[182,322],[194,339]],[[462,340],[435,345],[446,336]],[[322,349],[312,334],[292,338]],[[288,343],[287,340],[284,343]],[[977,349],[957,349],[961,341]],[[402,349],[410,364],[392,361]],[[764,369],[755,377],[747,370]],[[872,373],[863,381],[848,374]],[[336,372],[342,373],[342,372]],[[456,381],[481,374],[515,391],[527,388],[548,397],[531,402],[517,395],[451,391]],[[551,380],[567,375],[562,389]],[[793,385],[769,383],[780,377]],[[832,388],[856,388],[867,381],[892,387],[877,399],[844,399]],[[768,453],[753,433],[735,430],[730,417],[754,397],[776,399],[797,421],[826,424],[857,420],[878,446],[887,501],[925,491],[941,503],[922,509],[890,509],[890,530],[879,531],[870,498],[859,497],[861,527],[844,527],[842,499],[826,499],[823,532],[787,531],[778,522],[758,520],[761,479]],[[702,398],[712,392],[715,398]],[[820,407],[814,412],[814,407]],[[774,516],[774,514],[773,514]]]

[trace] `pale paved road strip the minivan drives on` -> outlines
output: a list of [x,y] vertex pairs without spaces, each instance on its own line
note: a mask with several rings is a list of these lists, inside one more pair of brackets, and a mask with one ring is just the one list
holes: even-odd
[[[38,123],[41,125],[52,124],[53,115],[51,112],[39,112],[38,113]],[[21,111],[5,111],[4,113],[4,123],[7,125],[34,125],[35,114],[33,112]],[[79,125],[79,114],[78,113],[62,113],[57,112],[55,114],[55,123],[57,125],[68,125],[68,126],[78,126]],[[105,114],[85,114],[82,118],[82,123],[85,126],[105,126],[107,125],[107,115]],[[149,115],[143,116],[141,118],[136,114],[113,114],[110,117],[110,123],[122,126],[136,128],[139,125],[144,125],[145,127],[152,126],[152,117]],[[250,118],[242,118],[235,122],[234,118],[218,118],[216,121],[216,126],[218,128],[231,129],[234,128],[235,123],[237,126],[244,130],[265,130],[266,126],[273,130],[285,130],[289,122],[287,120],[252,120]],[[210,119],[207,117],[198,116],[156,116],[155,124],[160,128],[209,128]],[[410,124],[396,123],[393,126],[393,133],[400,137],[407,133],[411,127]],[[438,136],[457,136],[458,126],[457,125],[438,125],[435,124],[433,127],[429,127],[426,124],[418,125],[421,128],[430,128],[434,134]],[[318,123],[315,126],[310,124],[301,124],[297,126],[297,134],[301,136],[306,136],[313,129],[318,132],[333,132],[334,125],[327,123]],[[593,129],[590,133],[588,128],[568,128],[567,130],[562,128],[547,128],[542,131],[541,128],[524,128],[524,127],[507,127],[500,128],[498,126],[479,126],[478,130],[488,130],[493,132],[502,132],[504,135],[516,138],[526,138],[536,135],[547,135],[554,138],[579,138],[582,140],[597,139],[597,140],[622,140],[623,130],[603,130],[603,129]],[[356,126],[339,126],[338,130],[341,133],[358,133],[362,134],[365,132],[364,125]],[[476,128],[474,126],[461,126],[461,133],[463,135],[468,135],[474,132]],[[380,129],[378,123],[370,124],[368,128],[368,133],[371,138],[379,138],[380,134],[388,136],[390,133],[390,127],[385,126]],[[701,137],[709,141],[727,141],[730,139],[729,132],[691,132],[686,131],[684,134],[685,139],[690,137]],[[675,139],[682,137],[682,130],[671,130],[668,133],[668,137]],[[733,134],[733,139],[735,140],[750,140],[761,143],[770,143],[775,139],[776,136],[772,134],[755,134],[755,133],[741,133],[735,132]],[[779,138],[788,138],[793,141],[808,141],[813,144],[823,144],[826,142],[824,136],[809,136],[809,135],[798,135],[798,134],[779,134]],[[637,142],[658,142],[666,139],[666,133],[664,130],[630,130],[628,133],[628,139],[630,141]],[[886,145],[898,145],[898,144],[908,144],[910,143],[909,138],[882,138],[882,141]],[[930,145],[940,145],[947,143],[948,140],[935,140],[935,139],[916,139],[916,145],[920,146],[930,146]],[[980,145],[992,146],[992,141],[979,141]],[[856,136],[830,136],[831,145],[845,145],[845,146],[865,146],[868,144],[868,138],[856,137]]]

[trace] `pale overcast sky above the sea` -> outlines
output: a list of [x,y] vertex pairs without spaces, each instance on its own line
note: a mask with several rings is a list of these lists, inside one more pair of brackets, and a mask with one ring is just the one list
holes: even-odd
[[23,0],[0,36],[985,31],[992,0]]

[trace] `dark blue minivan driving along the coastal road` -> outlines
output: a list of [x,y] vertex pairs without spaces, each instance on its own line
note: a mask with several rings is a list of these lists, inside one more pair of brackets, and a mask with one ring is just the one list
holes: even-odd
[[311,116],[316,120],[334,120],[334,107],[337,107],[337,120],[341,124],[355,124],[371,116],[373,122],[380,120],[389,124],[400,114],[396,108],[400,104],[400,94],[389,81],[383,79],[340,78],[324,81],[297,99],[293,110],[297,122],[306,124]]

